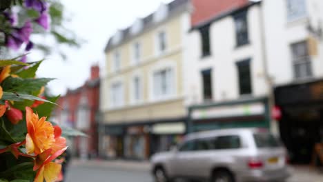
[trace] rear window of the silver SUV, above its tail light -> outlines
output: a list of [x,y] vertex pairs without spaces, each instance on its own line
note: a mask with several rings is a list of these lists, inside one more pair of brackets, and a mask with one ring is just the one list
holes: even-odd
[[258,133],[253,134],[253,137],[255,138],[257,148],[277,148],[281,146],[280,141],[278,141],[272,134]]

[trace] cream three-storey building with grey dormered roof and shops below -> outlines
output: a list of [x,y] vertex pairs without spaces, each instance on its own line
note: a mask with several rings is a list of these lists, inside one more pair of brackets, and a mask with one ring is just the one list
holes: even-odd
[[161,4],[109,39],[101,154],[146,159],[186,132],[182,64],[189,10],[188,0]]

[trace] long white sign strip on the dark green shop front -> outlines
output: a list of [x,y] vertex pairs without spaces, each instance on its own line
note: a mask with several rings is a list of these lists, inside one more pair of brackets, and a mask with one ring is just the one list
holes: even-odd
[[209,108],[195,109],[193,119],[215,119],[225,117],[246,117],[265,113],[264,103],[248,103],[226,106],[210,106]]

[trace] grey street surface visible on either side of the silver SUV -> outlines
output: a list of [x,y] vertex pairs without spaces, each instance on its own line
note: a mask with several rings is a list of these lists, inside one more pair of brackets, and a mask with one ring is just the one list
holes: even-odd
[[[290,166],[291,177],[287,182],[323,182],[323,171],[310,166]],[[66,182],[133,181],[153,182],[148,161],[73,160]]]

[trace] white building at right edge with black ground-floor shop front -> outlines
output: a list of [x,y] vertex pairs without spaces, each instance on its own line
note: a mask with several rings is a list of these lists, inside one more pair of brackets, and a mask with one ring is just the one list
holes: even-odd
[[323,1],[262,3],[280,136],[292,162],[310,163],[323,141]]

